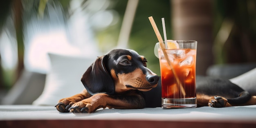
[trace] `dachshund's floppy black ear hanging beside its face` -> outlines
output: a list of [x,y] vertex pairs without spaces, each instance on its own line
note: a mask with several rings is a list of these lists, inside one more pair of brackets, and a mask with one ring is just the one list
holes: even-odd
[[115,85],[105,67],[107,56],[100,56],[83,74],[81,81],[90,94],[114,94]]

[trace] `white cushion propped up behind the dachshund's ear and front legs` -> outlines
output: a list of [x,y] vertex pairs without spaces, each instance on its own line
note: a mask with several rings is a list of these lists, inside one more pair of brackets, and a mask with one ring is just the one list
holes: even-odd
[[[94,56],[92,56],[94,57]],[[81,76],[96,60],[49,53],[51,70],[46,75],[43,93],[32,104],[56,105],[59,99],[80,93],[84,86]]]

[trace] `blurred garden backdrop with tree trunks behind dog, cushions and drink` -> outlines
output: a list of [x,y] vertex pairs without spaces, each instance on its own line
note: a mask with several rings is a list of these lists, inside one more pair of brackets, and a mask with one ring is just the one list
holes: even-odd
[[134,49],[160,75],[149,16],[162,36],[165,18],[168,39],[198,41],[198,75],[255,67],[256,0],[2,0],[0,10],[1,97],[24,72],[45,79],[49,52],[96,58]]

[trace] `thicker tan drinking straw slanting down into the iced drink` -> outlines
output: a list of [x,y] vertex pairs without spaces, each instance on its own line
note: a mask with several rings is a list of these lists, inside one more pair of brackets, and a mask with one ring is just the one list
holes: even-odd
[[180,82],[180,79],[177,77],[177,74],[176,74],[176,72],[173,69],[173,65],[171,64],[171,61],[169,60],[166,52],[164,51],[164,49],[165,49],[164,47],[165,46],[164,46],[164,43],[163,43],[163,39],[162,39],[162,36],[161,36],[161,34],[160,34],[160,32],[159,32],[159,30],[157,28],[157,25],[155,24],[155,20],[153,19],[152,16],[148,17],[148,19],[149,19],[149,21],[150,21],[150,23],[151,23],[151,25],[152,25],[152,27],[153,27],[153,29],[155,31],[155,34],[156,34],[157,39],[159,41],[160,47],[161,47],[161,49],[162,49],[162,51],[164,53],[164,57],[166,58],[166,61],[167,61],[168,65],[171,67],[171,71],[173,72],[173,76],[175,77],[175,79],[177,81],[177,88],[178,88],[178,90],[180,90],[182,92],[183,97],[185,98],[186,92],[185,92],[185,90],[184,90],[184,88],[182,86],[182,83]]

